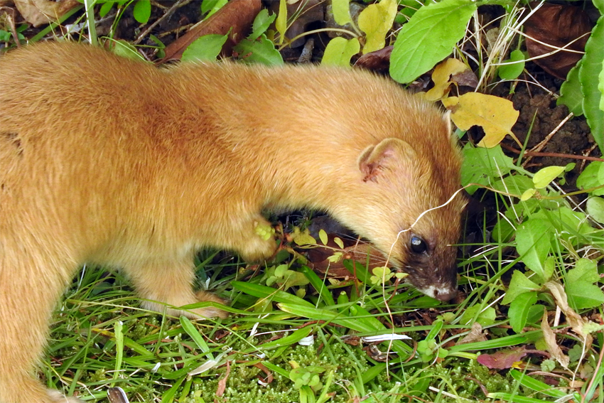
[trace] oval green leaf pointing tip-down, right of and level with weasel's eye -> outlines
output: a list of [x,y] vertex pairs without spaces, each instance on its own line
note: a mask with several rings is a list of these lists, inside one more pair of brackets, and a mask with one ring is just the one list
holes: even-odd
[[551,249],[552,236],[544,220],[527,220],[516,231],[516,250],[522,262],[544,281],[544,263]]

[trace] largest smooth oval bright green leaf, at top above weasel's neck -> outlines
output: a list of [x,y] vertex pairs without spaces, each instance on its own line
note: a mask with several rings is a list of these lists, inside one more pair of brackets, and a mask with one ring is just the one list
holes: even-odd
[[470,0],[443,0],[421,7],[404,24],[394,43],[392,78],[411,82],[446,58],[465,35],[465,26],[477,7]]

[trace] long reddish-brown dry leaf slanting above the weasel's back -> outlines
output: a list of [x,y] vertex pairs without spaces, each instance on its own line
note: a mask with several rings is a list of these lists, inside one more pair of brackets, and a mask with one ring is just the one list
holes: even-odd
[[229,33],[227,43],[222,46],[222,52],[230,55],[231,49],[245,38],[254,18],[260,12],[260,0],[231,0],[222,9],[212,14],[207,20],[190,28],[185,35],[166,46],[166,56],[158,60],[158,64],[168,60],[180,60],[185,49],[200,36],[215,33],[226,35]]

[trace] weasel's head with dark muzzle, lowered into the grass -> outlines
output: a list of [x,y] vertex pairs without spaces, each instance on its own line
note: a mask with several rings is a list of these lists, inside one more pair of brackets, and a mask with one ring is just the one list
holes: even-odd
[[461,158],[448,117],[433,116],[424,136],[393,136],[362,151],[361,211],[343,221],[380,249],[390,266],[409,274],[419,291],[448,301],[457,294],[455,244],[466,202],[458,191]]

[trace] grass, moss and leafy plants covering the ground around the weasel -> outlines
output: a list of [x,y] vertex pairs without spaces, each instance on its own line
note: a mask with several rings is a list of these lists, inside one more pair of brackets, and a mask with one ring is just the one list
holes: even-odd
[[[198,285],[232,301],[222,321],[142,311],[119,272],[85,267],[55,314],[41,368],[50,387],[101,402],[110,387],[131,402],[166,403],[603,401],[604,4],[563,4],[589,15],[591,33],[581,64],[568,71],[532,63],[547,56],[532,55],[534,38],[521,34],[536,24],[531,13],[548,26],[554,11],[539,12],[543,5],[370,3],[355,14],[333,1],[337,28],[311,21],[296,37],[319,45],[288,48],[288,30],[307,11],[277,1],[253,13],[252,30],[227,54],[279,64],[310,48],[317,63],[386,63],[394,79],[453,112],[462,185],[473,200],[455,303],[422,296],[404,274],[360,253],[354,238],[311,232],[317,219],[296,213],[281,220],[287,246],[264,267],[200,254]],[[20,9],[26,21],[2,14],[0,41],[9,50],[26,38],[85,37],[157,60],[222,6],[86,1],[59,16],[60,25],[39,28]],[[541,39],[555,36],[551,27]],[[336,31],[343,36],[328,36]],[[225,52],[227,32],[211,34],[190,38],[177,58]],[[494,106],[479,113],[479,105]]]

